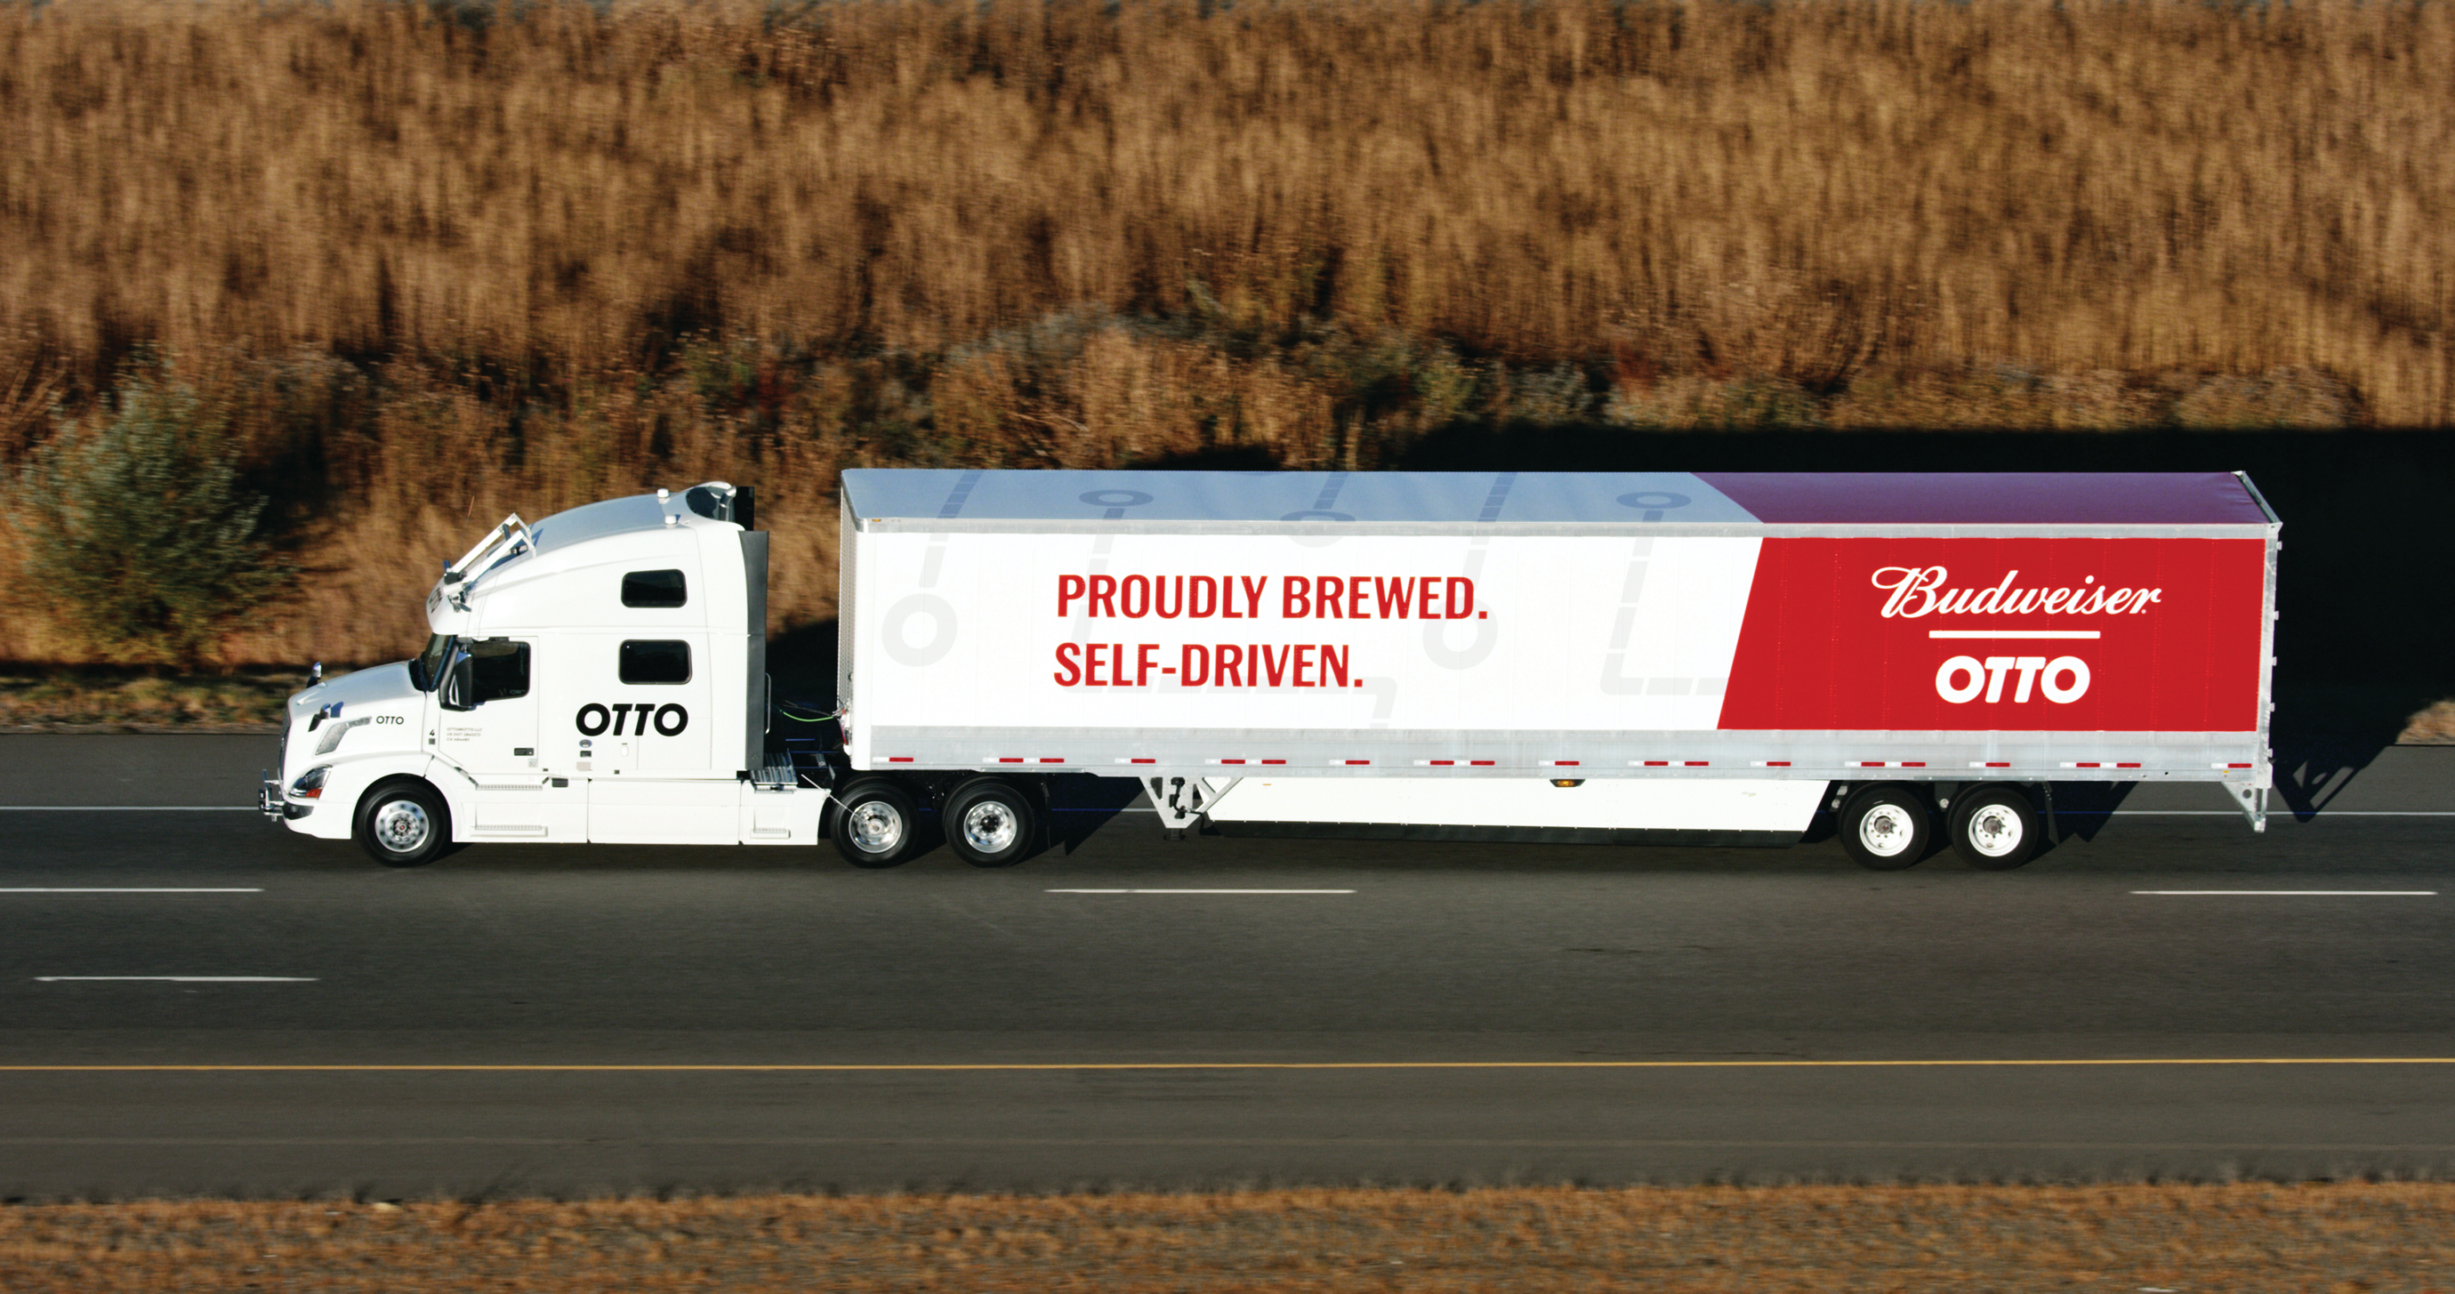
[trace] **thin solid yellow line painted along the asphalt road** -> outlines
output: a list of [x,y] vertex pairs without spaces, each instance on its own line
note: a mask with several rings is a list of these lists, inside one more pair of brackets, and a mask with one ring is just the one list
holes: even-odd
[[1051,1063],[734,1063],[734,1066],[0,1066],[0,1073],[1046,1073],[1046,1071],[1731,1071],[1731,1068],[2052,1068],[2052,1066],[2455,1066],[2455,1056],[2116,1056],[2072,1061],[1051,1061]]

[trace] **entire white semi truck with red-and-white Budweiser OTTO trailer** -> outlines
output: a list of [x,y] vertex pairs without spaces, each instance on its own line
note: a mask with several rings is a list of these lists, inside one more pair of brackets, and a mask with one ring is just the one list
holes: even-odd
[[[980,867],[1056,786],[1166,835],[2040,850],[2057,783],[2266,825],[2281,523],[2244,474],[849,469],[835,705],[766,670],[722,481],[506,518],[415,661],[290,697],[260,805]],[[795,732],[818,739],[795,739]],[[1112,783],[1122,786],[1122,783]]]

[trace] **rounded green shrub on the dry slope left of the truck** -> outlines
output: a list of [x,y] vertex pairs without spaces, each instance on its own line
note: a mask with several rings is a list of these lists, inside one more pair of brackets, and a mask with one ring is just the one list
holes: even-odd
[[17,476],[32,594],[113,661],[194,663],[290,570],[243,489],[228,415],[130,368],[98,417],[56,420]]

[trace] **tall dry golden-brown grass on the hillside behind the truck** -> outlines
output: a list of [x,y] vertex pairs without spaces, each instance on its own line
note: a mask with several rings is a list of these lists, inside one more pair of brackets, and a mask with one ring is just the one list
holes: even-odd
[[0,5],[0,459],[130,363],[226,408],[302,575],[221,661],[707,476],[788,626],[849,462],[2455,422],[2448,2],[523,12]]

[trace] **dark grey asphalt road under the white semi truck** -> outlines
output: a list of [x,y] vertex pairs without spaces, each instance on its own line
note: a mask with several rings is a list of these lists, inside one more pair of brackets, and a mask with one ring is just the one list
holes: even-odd
[[385,872],[142,808],[268,749],[0,737],[0,1198],[2455,1171],[2455,749],[2295,769],[2264,837],[2074,791],[2013,874],[1144,813]]

